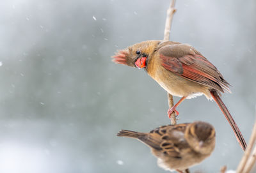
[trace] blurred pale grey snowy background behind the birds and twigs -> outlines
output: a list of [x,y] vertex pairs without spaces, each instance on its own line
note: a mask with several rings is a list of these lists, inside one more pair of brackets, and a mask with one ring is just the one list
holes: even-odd
[[[111,56],[163,39],[170,1],[3,0],[0,3],[0,172],[165,172],[121,129],[170,121],[166,92]],[[177,1],[171,40],[189,43],[232,85],[223,94],[246,141],[255,120],[256,1]],[[177,102],[179,98],[175,98]],[[214,102],[179,106],[178,123],[214,125],[214,153],[191,170],[236,169],[243,151]]]

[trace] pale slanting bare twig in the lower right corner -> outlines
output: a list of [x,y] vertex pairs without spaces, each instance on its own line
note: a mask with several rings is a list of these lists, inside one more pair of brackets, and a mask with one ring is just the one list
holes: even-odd
[[[246,169],[244,169],[245,167],[246,167],[246,165],[248,165],[249,163],[247,163],[247,161],[248,161],[248,158],[249,158],[249,156],[250,156],[250,154],[252,153],[252,148],[253,148],[253,145],[255,144],[255,141],[256,141],[256,122],[255,122],[255,124],[254,124],[254,126],[253,126],[253,130],[252,130],[252,135],[251,135],[251,137],[250,137],[250,142],[249,142],[249,145],[247,146],[247,148],[246,148],[246,150],[245,150],[245,152],[244,152],[244,156],[243,156],[243,158],[241,159],[241,161],[240,161],[240,163],[239,163],[239,165],[238,165],[238,167],[237,167],[237,170],[236,170],[236,172],[237,173],[241,173],[241,172],[245,172],[244,170],[246,170]],[[255,151],[255,149],[253,150],[253,152]],[[255,151],[256,152],[256,151]],[[255,153],[254,153],[255,154]],[[252,156],[251,156],[252,157]],[[253,163],[255,163],[255,160],[254,160],[254,162]],[[252,163],[252,164],[253,164]],[[249,169],[249,167],[247,166],[247,168]],[[252,169],[252,168],[251,168]]]

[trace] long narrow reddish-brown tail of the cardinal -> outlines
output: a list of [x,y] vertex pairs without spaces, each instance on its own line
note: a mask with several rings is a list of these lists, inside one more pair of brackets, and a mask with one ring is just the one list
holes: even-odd
[[218,106],[220,107],[221,111],[223,112],[224,116],[227,118],[228,123],[230,124],[230,126],[232,127],[235,135],[236,135],[236,139],[239,142],[240,146],[243,148],[243,150],[246,149],[246,142],[244,140],[244,137],[242,135],[242,133],[240,132],[236,122],[234,121],[233,117],[230,115],[230,113],[228,112],[227,107],[225,106],[225,104],[222,102],[220,95],[218,94],[218,91],[216,90],[212,90],[211,91],[211,95],[212,98],[214,99],[214,101],[218,104]]

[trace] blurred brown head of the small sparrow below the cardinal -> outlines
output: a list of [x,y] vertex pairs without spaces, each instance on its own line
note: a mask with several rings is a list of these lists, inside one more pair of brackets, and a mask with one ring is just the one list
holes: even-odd
[[215,130],[209,123],[196,121],[189,124],[185,138],[189,145],[201,154],[211,154],[215,147]]

